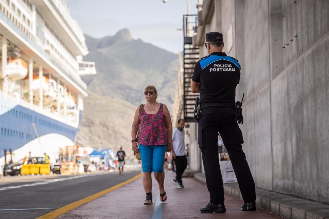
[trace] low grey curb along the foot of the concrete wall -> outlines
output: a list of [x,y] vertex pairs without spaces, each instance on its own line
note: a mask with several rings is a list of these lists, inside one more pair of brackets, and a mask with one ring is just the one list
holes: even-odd
[[[194,178],[206,183],[203,173]],[[242,200],[238,183],[224,184],[224,192]],[[256,205],[287,219],[329,219],[329,205],[256,188]]]

